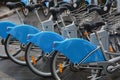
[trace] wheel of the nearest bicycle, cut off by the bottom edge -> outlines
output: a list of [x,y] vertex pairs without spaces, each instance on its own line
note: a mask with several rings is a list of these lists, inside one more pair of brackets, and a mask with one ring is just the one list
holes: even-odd
[[86,73],[75,69],[69,59],[58,51],[55,51],[51,60],[51,72],[55,80],[88,80]]

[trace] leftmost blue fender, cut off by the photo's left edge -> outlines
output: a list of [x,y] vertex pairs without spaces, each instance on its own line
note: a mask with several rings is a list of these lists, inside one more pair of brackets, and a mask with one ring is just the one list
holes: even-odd
[[7,37],[7,27],[14,27],[16,26],[15,23],[10,21],[0,21],[0,37],[6,39]]

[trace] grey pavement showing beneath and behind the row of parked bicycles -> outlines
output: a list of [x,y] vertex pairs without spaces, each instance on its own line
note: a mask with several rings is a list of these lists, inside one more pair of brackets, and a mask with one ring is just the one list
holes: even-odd
[[[5,6],[0,7],[0,15],[7,11],[9,11],[9,9],[6,8]],[[42,14],[40,17],[42,20],[47,19],[43,17]],[[0,21],[4,21],[4,20],[10,20],[17,24],[21,24],[16,14],[10,17],[0,19]],[[24,18],[24,21],[26,24],[31,24],[35,27],[39,27],[38,20],[35,18],[33,13],[30,13],[28,17]],[[3,47],[3,45],[1,46]],[[4,51],[4,49],[1,46],[0,46],[0,50]],[[75,76],[73,76],[74,74]],[[115,72],[110,76],[103,77],[101,80],[120,80],[119,74],[120,71]],[[65,74],[65,76],[68,76],[67,80],[87,80],[85,75],[89,76],[84,72],[73,73],[72,74],[73,77],[71,77],[71,75],[69,76],[68,74]],[[0,59],[0,80],[54,80],[54,79],[52,77],[43,78],[37,76],[34,73],[32,73],[27,66],[17,65],[12,61],[10,61],[9,59]]]

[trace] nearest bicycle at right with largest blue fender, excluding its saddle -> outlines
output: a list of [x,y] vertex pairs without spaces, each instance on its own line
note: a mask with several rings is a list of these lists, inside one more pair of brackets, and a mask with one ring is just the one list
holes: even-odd
[[68,76],[65,77],[64,74],[71,73],[69,75],[75,76],[82,71],[87,73],[91,71],[88,78],[97,80],[102,78],[104,74],[109,75],[119,69],[119,55],[108,59],[107,53],[111,55],[116,55],[117,53],[106,52],[101,44],[99,35],[95,34],[99,41],[99,46],[78,38],[53,43],[55,51],[52,53],[51,71],[56,80],[67,80]]

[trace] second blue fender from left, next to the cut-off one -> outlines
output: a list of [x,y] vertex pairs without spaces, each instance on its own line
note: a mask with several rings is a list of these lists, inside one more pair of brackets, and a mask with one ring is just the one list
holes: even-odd
[[7,33],[18,39],[22,44],[27,43],[27,35],[40,32],[37,28],[31,25],[17,25],[15,27],[8,27]]

